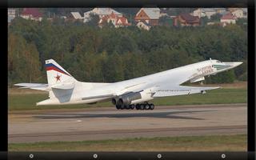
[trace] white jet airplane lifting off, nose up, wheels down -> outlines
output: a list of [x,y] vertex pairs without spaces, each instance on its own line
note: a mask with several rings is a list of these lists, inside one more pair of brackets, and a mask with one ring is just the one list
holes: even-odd
[[118,110],[154,110],[149,103],[154,98],[205,94],[206,90],[219,87],[182,86],[184,82],[202,82],[206,76],[233,69],[242,62],[220,62],[215,59],[180,66],[171,70],[133,78],[121,82],[79,82],[53,59],[46,60],[48,84],[18,83],[14,86],[33,90],[46,90],[49,99],[37,102],[37,106],[94,104],[111,101]]

